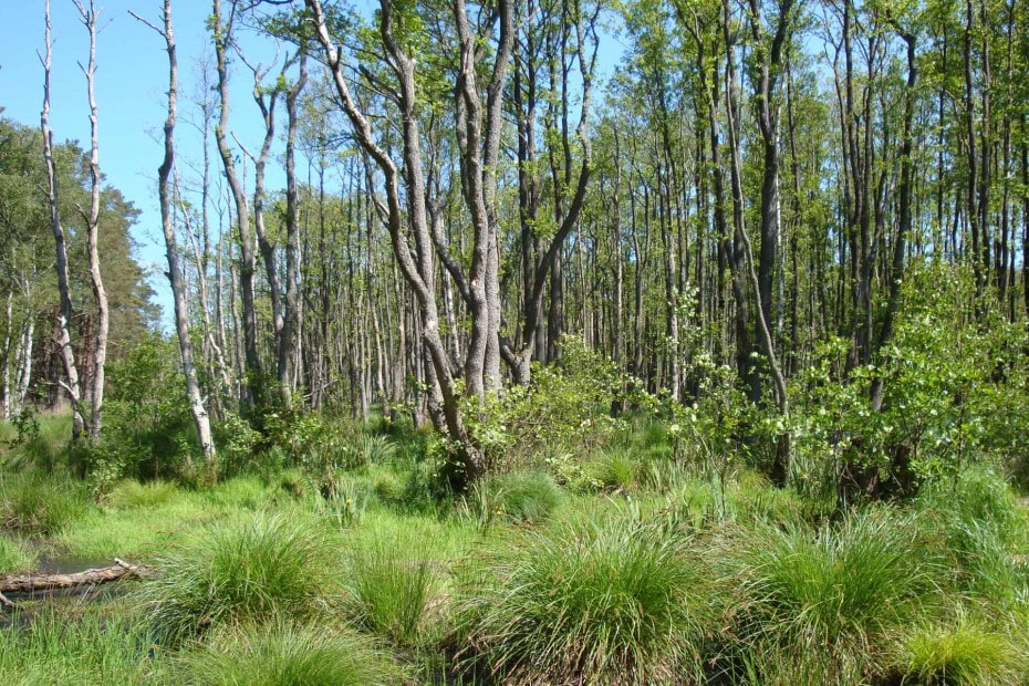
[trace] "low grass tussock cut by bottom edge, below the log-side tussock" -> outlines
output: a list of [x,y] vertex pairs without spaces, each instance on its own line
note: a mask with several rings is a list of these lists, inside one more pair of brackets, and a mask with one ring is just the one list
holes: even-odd
[[396,666],[360,635],[271,622],[218,632],[183,657],[189,683],[210,686],[389,686]]

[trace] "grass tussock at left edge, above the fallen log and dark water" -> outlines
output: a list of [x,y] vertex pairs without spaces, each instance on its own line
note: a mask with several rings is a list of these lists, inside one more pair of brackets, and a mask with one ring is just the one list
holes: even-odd
[[85,489],[67,477],[35,471],[0,477],[0,524],[4,529],[50,536],[89,507]]

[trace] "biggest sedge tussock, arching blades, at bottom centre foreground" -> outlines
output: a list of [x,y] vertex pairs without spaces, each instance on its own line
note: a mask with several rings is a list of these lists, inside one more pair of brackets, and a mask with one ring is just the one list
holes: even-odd
[[464,570],[459,654],[503,683],[688,680],[713,626],[710,578],[666,529],[616,519],[528,532]]

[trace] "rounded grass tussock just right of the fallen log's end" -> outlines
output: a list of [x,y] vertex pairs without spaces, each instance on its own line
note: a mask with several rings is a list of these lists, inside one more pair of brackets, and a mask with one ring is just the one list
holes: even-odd
[[159,559],[142,601],[158,636],[173,643],[229,620],[302,616],[329,589],[326,559],[302,520],[261,513],[221,523]]

